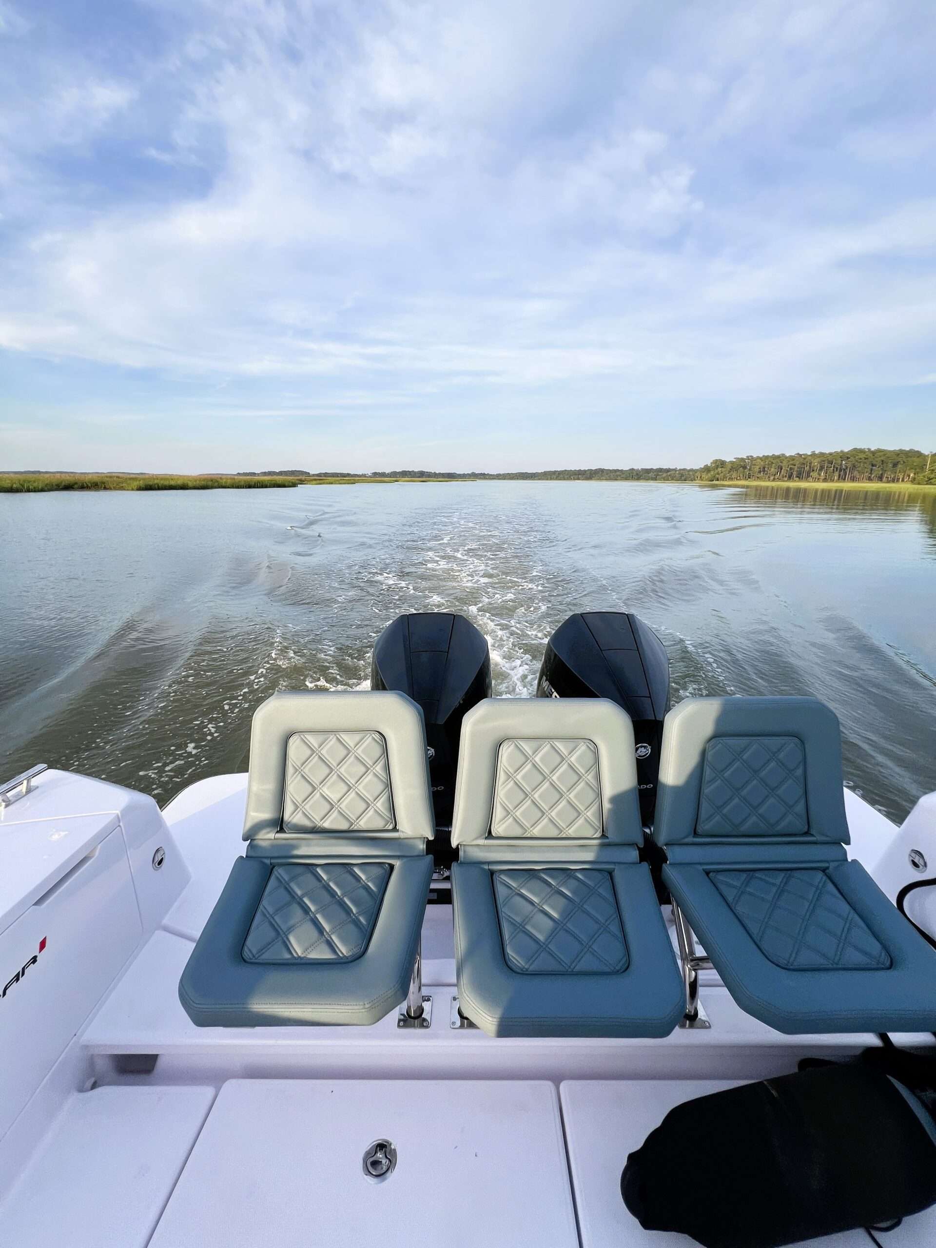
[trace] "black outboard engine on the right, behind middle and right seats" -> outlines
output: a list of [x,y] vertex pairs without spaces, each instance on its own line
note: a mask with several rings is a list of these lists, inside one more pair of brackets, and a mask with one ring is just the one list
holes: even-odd
[[663,641],[629,612],[570,615],[547,644],[537,698],[609,698],[634,721],[640,819],[653,820],[669,658]]

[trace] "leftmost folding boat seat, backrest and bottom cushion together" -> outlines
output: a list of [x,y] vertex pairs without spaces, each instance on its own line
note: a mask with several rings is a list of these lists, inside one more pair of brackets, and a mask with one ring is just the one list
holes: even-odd
[[432,880],[423,715],[283,693],[251,730],[243,839],[182,972],[200,1027],[372,1023],[407,995]]

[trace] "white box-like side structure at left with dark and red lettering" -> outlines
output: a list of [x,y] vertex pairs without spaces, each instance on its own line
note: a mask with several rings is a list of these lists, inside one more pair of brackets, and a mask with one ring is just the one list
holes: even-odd
[[0,809],[0,1138],[188,879],[144,794],[50,770]]

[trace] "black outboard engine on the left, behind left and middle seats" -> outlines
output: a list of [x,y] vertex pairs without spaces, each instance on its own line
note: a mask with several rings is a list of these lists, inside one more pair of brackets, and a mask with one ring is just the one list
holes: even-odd
[[437,865],[448,866],[462,720],[482,698],[490,698],[488,643],[464,615],[398,615],[374,643],[371,688],[397,689],[423,709],[432,751],[433,856]]

